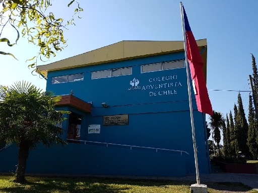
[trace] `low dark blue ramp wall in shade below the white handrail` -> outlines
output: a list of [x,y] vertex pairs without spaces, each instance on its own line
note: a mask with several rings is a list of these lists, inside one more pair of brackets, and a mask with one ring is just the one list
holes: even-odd
[[[18,148],[12,150],[12,160],[0,165],[4,172],[15,172]],[[10,155],[8,156],[10,158]],[[2,158],[2,157],[1,157]],[[35,162],[36,161],[36,162]],[[7,167],[8,166],[8,167]],[[184,176],[185,155],[177,152],[165,153],[121,149],[69,143],[64,147],[31,150],[27,161],[27,173],[54,174],[99,174],[99,175],[145,175]]]

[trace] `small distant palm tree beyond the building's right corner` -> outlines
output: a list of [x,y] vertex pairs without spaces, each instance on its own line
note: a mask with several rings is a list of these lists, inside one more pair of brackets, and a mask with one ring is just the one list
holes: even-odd
[[213,111],[213,115],[210,116],[210,127],[214,133],[214,140],[217,143],[218,151],[219,151],[219,156],[221,156],[221,151],[220,151],[220,140],[221,140],[221,135],[220,135],[220,129],[223,129],[223,126],[225,125],[225,120],[220,112]]

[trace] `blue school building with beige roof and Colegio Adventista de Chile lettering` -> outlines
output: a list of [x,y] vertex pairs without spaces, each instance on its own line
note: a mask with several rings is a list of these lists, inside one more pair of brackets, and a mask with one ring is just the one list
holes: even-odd
[[[207,41],[197,40],[207,67]],[[65,146],[30,151],[29,173],[184,176],[195,173],[183,41],[121,41],[38,66],[46,90],[71,114]],[[192,89],[192,87],[191,87]],[[192,89],[200,173],[210,172],[205,114]],[[18,147],[0,151],[15,172]]]

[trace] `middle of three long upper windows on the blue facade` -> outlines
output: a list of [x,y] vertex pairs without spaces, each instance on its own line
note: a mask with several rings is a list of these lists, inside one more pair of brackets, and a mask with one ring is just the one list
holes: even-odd
[[104,78],[104,77],[112,77],[112,76],[121,76],[132,74],[132,67],[124,67],[124,68],[113,68],[110,70],[101,70],[92,72],[91,78]]

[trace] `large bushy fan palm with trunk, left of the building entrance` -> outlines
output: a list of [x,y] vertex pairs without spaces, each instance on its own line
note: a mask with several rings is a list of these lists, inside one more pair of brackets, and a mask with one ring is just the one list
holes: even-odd
[[56,126],[64,118],[64,111],[56,111],[60,96],[42,91],[28,82],[16,82],[10,87],[0,86],[0,140],[19,147],[16,182],[25,182],[29,150],[42,143],[66,144],[60,138],[62,128]]

